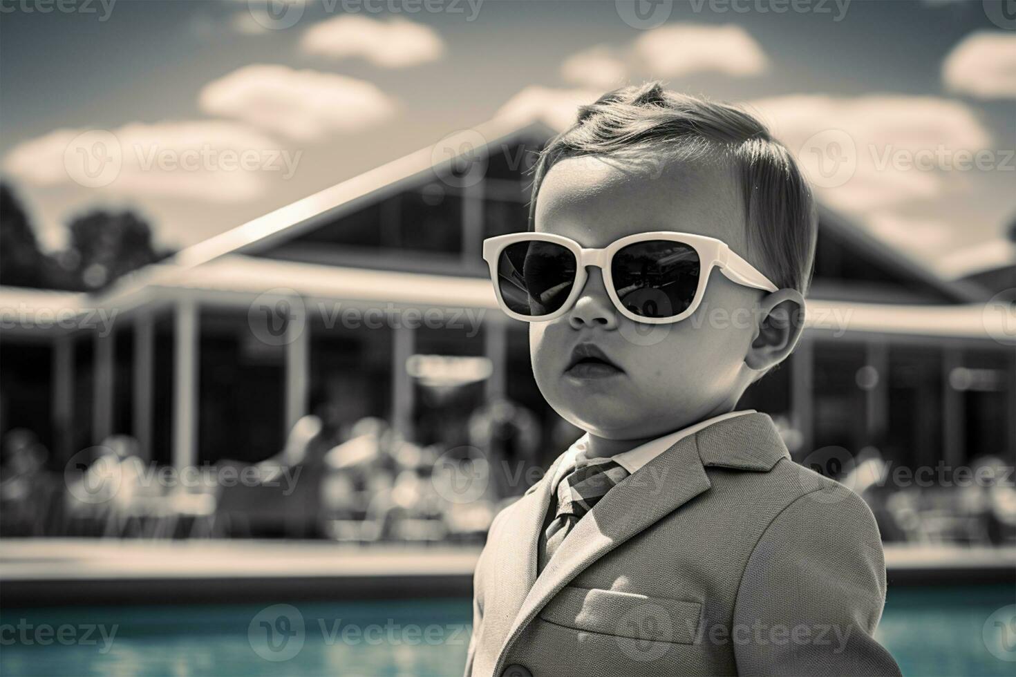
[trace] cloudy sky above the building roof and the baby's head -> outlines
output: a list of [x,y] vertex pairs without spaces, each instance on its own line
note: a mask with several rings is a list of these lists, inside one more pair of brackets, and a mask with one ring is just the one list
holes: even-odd
[[746,106],[820,199],[954,277],[1013,259],[994,0],[0,0],[0,176],[46,248],[131,208],[182,248],[494,117],[626,83]]

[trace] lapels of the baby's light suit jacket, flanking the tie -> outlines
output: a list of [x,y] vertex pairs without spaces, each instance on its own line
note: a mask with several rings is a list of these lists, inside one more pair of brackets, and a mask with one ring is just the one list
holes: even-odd
[[525,497],[532,498],[535,493],[541,493],[539,509],[532,500],[519,516],[520,520],[528,521],[525,523],[527,528],[535,525],[536,529],[535,534],[526,534],[523,544],[529,566],[527,572],[530,574],[525,580],[526,583],[534,583],[528,588],[528,594],[506,635],[494,674],[501,674],[505,657],[525,626],[579,572],[710,486],[699,458],[695,435],[681,439],[609,491],[575,524],[536,578],[536,547],[550,499],[550,482],[546,484],[548,486],[543,491]]

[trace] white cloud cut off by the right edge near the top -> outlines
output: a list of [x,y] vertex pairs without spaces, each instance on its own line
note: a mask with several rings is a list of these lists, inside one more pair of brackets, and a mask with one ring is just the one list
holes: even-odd
[[981,30],[964,38],[942,64],[951,91],[1016,98],[1016,35]]

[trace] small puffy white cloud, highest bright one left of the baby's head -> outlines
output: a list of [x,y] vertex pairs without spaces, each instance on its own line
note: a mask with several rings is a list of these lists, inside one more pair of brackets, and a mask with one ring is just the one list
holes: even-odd
[[300,48],[333,59],[361,58],[383,68],[405,68],[437,61],[444,43],[433,28],[391,18],[381,21],[345,14],[321,21],[304,33]]

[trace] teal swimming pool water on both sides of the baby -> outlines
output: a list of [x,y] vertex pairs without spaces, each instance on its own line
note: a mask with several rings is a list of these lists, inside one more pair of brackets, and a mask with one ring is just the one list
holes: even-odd
[[[1013,597],[1007,586],[891,590],[879,639],[904,675],[1011,675],[982,629]],[[462,672],[470,620],[467,599],[6,609],[0,674],[445,677]]]

